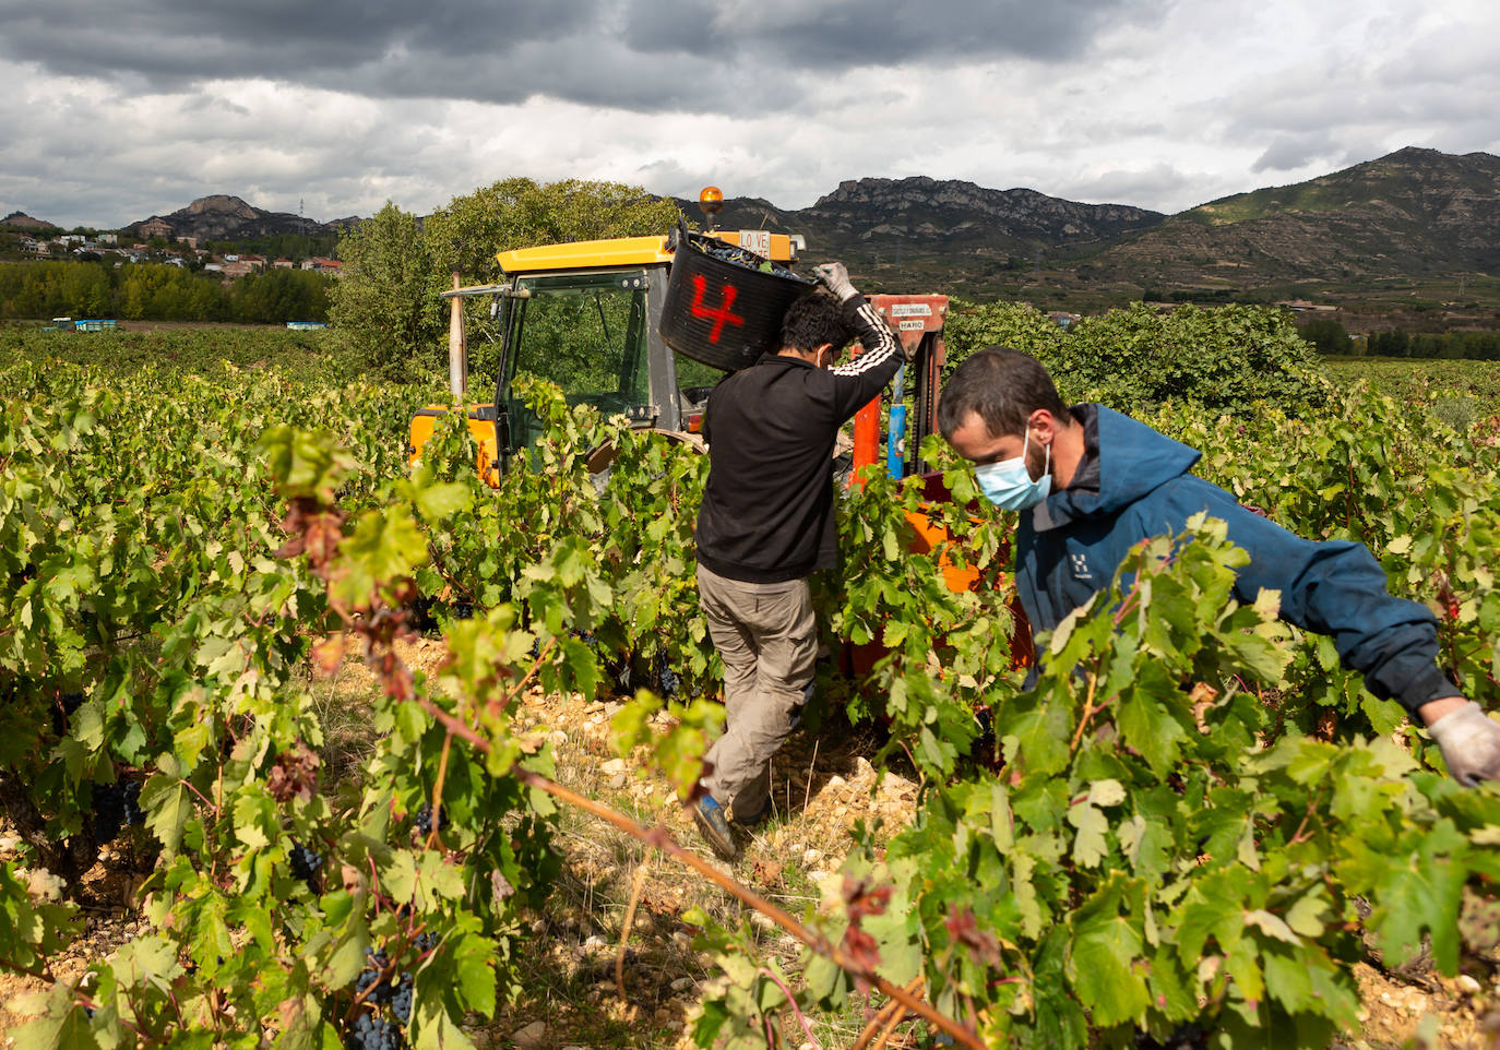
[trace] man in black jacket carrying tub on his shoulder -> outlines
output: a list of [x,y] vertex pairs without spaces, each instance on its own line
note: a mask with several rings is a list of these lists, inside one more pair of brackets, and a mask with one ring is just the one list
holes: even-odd
[[[724,663],[728,723],[708,752],[706,794],[693,804],[723,860],[740,850],[729,819],[770,806],[771,756],[801,718],[818,660],[810,573],[838,560],[832,452],[842,428],[896,376],[896,334],[849,284],[818,267],[830,294],[792,303],[782,350],[735,372],[708,398],[708,484],[698,513],[698,592]],[[864,352],[832,368],[858,336]]]

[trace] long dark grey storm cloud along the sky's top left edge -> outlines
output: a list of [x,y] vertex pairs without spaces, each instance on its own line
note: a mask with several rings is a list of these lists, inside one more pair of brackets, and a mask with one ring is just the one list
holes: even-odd
[[[1074,58],[1170,0],[0,0],[0,57],[129,90],[270,78],[378,98],[642,112],[792,106],[850,68]],[[800,88],[792,81],[801,80]]]

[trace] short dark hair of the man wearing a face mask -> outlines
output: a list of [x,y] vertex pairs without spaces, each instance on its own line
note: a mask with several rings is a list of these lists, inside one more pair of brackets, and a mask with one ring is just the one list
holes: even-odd
[[992,438],[1023,434],[1038,408],[1068,420],[1068,406],[1041,362],[1006,346],[987,346],[958,364],[944,382],[938,429],[951,440],[969,412],[978,412]]

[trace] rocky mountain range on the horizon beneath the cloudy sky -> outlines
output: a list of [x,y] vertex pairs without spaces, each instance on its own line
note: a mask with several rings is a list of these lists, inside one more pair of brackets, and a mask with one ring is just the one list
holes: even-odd
[[[700,218],[696,201],[678,204]],[[178,237],[212,240],[327,234],[358,222],[315,222],[222,194],[152,218]],[[21,213],[4,222],[48,225]],[[1414,280],[1437,288],[1428,291],[1438,302],[1456,282],[1460,294],[1500,306],[1500,158],[1488,153],[1408,147],[1172,216],[918,176],[844,182],[806,208],[729,198],[714,222],[800,232],[808,261],[840,258],[872,291],[1088,306],[1158,290],[1179,298],[1350,296]]]

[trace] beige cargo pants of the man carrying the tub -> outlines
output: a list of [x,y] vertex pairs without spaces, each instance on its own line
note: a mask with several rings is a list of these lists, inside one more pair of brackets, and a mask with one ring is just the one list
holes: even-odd
[[770,760],[796,728],[818,662],[818,624],[806,579],[747,584],[698,567],[708,634],[724,662],[724,735],[708,752],[710,794],[756,816],[770,800]]

